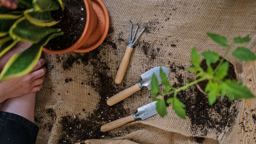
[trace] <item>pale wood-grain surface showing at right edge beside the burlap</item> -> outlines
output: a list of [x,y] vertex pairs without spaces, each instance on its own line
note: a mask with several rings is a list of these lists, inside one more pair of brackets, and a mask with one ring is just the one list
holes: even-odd
[[[256,52],[255,52],[256,54]],[[244,66],[246,86],[256,95],[256,62],[248,62]],[[231,144],[255,144],[256,143],[256,99],[242,101],[242,112],[238,115]]]

